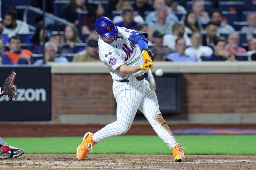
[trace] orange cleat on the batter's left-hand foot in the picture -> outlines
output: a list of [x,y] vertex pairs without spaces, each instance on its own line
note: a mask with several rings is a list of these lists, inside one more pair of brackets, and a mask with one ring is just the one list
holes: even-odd
[[85,133],[82,144],[76,148],[76,158],[78,160],[83,160],[89,151],[92,152],[92,146],[97,144],[92,141],[92,135],[91,132]]

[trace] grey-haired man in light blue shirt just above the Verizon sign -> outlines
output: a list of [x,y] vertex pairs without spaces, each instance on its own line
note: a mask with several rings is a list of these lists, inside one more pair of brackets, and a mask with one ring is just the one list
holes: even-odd
[[[56,57],[57,54],[57,46],[52,42],[47,42],[44,45],[44,60],[45,62],[56,62],[56,63],[68,63],[68,59],[66,57],[60,56]],[[34,65],[42,65],[44,64],[43,59],[36,60]]]

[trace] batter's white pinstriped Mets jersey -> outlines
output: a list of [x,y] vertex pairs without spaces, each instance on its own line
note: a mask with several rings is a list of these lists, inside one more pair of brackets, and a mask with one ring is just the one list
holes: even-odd
[[133,30],[119,26],[116,26],[116,28],[118,29],[117,40],[106,43],[99,39],[98,44],[101,61],[104,62],[105,67],[110,71],[113,80],[122,80],[143,75],[145,70],[140,70],[129,75],[116,70],[122,64],[141,65],[144,63],[139,46],[128,40]]

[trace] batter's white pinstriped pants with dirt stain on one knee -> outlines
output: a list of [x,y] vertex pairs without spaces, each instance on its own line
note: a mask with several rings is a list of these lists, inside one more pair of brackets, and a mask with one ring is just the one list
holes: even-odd
[[161,115],[156,93],[150,90],[150,85],[145,79],[137,81],[134,77],[129,78],[129,80],[125,83],[113,81],[113,94],[117,103],[117,119],[94,133],[92,140],[100,142],[107,137],[126,133],[139,109],[157,135],[172,149],[178,142]]

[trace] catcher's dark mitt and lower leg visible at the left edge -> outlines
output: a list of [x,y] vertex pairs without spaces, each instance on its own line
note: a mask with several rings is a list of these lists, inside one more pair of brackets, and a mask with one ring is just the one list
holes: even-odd
[[[6,78],[4,86],[0,87],[0,97],[8,95],[14,99],[18,98],[18,92],[13,86],[16,73],[12,71],[11,75]],[[22,149],[8,146],[7,143],[0,137],[0,158],[17,158],[24,153]]]

